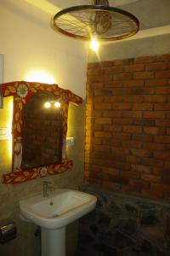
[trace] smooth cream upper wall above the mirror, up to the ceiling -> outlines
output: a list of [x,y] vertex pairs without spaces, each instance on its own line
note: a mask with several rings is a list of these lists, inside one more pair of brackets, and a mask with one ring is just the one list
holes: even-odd
[[[82,41],[50,27],[51,15],[23,0],[0,1],[0,54],[4,82],[42,73],[38,80],[59,84],[85,97],[87,53]],[[43,73],[49,79],[43,78]]]

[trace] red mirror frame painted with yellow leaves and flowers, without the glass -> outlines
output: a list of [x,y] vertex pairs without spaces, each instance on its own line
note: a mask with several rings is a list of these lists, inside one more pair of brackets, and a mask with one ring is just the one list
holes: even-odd
[[[14,166],[14,148],[21,146],[22,148],[22,130],[23,130],[23,113],[26,103],[36,93],[50,93],[56,96],[57,101],[61,103],[63,111],[63,147],[62,147],[62,160],[56,164],[50,164],[41,167],[33,167],[27,170],[18,168],[13,172],[3,174],[3,183],[23,183],[38,177],[45,177],[48,175],[55,175],[65,172],[73,165],[72,160],[66,159],[66,132],[67,132],[67,117],[69,102],[77,105],[82,103],[82,98],[72,93],[70,90],[59,88],[57,84],[42,84],[37,82],[16,81],[2,84],[3,97],[14,97],[14,111],[13,111],[13,159],[12,166]],[[20,138],[20,140],[19,140]],[[16,144],[19,143],[20,145]],[[22,152],[20,153],[22,154]],[[21,156],[20,156],[21,157]]]

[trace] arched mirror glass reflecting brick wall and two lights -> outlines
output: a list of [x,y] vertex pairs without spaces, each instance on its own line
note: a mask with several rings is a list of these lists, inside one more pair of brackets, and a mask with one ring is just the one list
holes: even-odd
[[59,107],[55,96],[48,93],[37,93],[27,102],[20,150],[22,169],[46,166],[61,160],[63,131],[62,110]]

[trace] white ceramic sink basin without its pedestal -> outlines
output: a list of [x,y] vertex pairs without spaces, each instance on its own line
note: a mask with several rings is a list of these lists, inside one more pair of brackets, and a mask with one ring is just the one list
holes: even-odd
[[20,201],[20,215],[48,230],[57,230],[92,211],[96,197],[77,190],[56,189],[50,196],[35,195]]

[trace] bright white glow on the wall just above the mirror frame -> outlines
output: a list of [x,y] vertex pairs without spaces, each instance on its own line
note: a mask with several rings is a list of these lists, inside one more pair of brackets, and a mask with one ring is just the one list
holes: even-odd
[[37,70],[37,71],[31,71],[30,73],[26,74],[25,80],[27,82],[39,82],[44,84],[55,84],[55,79],[52,75],[49,73]]

